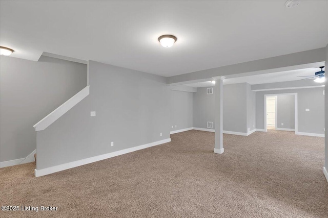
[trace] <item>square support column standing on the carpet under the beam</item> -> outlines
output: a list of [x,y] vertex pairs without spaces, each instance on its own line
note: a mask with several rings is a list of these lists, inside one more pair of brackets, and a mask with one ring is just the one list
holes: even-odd
[[214,92],[214,110],[215,110],[215,146],[214,153],[222,154],[223,149],[223,80],[225,77],[213,77],[215,86]]

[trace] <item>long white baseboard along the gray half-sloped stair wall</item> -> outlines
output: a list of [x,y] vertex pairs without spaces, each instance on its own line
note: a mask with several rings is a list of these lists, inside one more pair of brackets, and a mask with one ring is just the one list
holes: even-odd
[[103,155],[98,155],[98,156],[95,156],[95,157],[89,157],[89,158],[82,159],[82,160],[76,160],[76,161],[73,161],[73,162],[64,163],[64,164],[60,164],[60,165],[57,165],[57,166],[51,166],[51,167],[44,168],[44,169],[34,169],[34,175],[35,175],[35,177],[45,176],[45,175],[56,173],[56,172],[59,172],[59,171],[64,171],[65,169],[73,168],[73,167],[76,167],[76,166],[81,166],[81,165],[85,165],[85,164],[88,164],[88,163],[93,163],[93,162],[96,162],[96,161],[99,161],[99,160],[105,160],[105,159],[108,159],[108,158],[111,158],[111,157],[116,157],[116,156],[119,156],[119,155],[122,155],[122,154],[135,152],[135,151],[138,151],[138,150],[141,150],[141,149],[146,149],[146,148],[149,148],[149,147],[158,146],[159,144],[167,143],[167,142],[170,142],[170,141],[171,141],[171,138],[167,138],[167,139],[163,139],[163,140],[160,140],[160,141],[151,142],[151,143],[148,143],[148,144],[142,144],[142,146],[137,146],[137,147],[133,147],[133,148],[129,148],[129,149],[123,149],[123,150],[120,150],[120,151],[111,152],[111,153],[107,153],[107,154],[103,154]]

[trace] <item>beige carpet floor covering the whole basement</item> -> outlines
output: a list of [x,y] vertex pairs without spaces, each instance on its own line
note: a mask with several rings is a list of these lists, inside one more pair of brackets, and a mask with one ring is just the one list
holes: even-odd
[[34,163],[0,169],[1,217],[328,217],[324,139],[269,130],[191,130],[170,143],[35,178]]

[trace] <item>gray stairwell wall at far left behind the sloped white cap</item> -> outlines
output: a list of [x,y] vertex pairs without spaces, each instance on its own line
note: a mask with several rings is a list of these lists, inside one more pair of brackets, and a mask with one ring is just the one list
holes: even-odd
[[0,161],[36,149],[33,125],[87,85],[87,65],[41,56],[0,56]]

